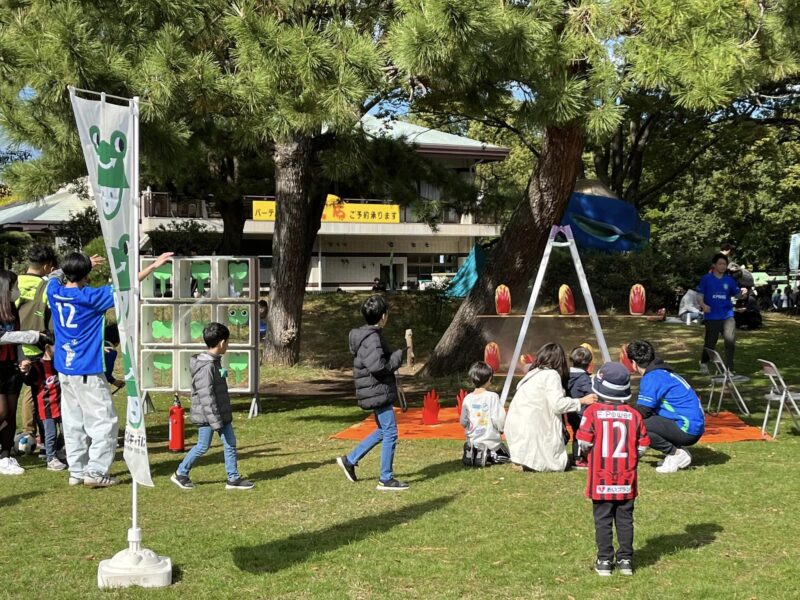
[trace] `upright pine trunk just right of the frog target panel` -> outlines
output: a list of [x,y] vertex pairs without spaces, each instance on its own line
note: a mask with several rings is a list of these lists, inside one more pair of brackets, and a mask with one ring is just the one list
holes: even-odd
[[308,268],[325,198],[311,185],[311,138],[275,144],[275,232],[272,235],[267,360],[290,366],[300,359],[300,326]]

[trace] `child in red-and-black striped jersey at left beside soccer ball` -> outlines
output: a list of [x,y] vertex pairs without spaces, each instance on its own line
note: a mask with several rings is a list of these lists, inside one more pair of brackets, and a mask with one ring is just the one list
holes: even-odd
[[57,452],[64,439],[59,435],[61,426],[61,382],[53,364],[53,338],[42,340],[44,354],[41,358],[26,360],[20,365],[25,373],[25,383],[31,387],[39,419],[44,426],[45,451],[48,471],[63,471],[67,465],[59,460]]

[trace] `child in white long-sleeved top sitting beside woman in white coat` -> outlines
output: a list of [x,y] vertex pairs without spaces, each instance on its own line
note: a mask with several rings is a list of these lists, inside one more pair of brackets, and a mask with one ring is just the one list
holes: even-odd
[[[484,466],[508,462],[508,450],[501,440],[506,411],[500,396],[489,391],[494,377],[492,367],[483,361],[473,363],[469,378],[475,389],[461,404],[459,422],[465,429],[464,461],[469,466]],[[476,461],[478,464],[475,464]]]

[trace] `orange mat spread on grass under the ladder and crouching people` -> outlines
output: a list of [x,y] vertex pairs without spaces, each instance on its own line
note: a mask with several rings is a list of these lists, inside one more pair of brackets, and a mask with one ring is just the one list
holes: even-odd
[[[458,411],[455,406],[444,407],[439,411],[438,425],[422,424],[422,409],[409,408],[408,412],[395,409],[397,429],[401,439],[405,440],[463,440],[464,428],[458,423]],[[336,440],[361,441],[375,430],[375,419],[370,416],[331,436]],[[700,440],[704,444],[719,442],[745,442],[766,440],[758,427],[751,427],[730,412],[706,415],[706,432]]]

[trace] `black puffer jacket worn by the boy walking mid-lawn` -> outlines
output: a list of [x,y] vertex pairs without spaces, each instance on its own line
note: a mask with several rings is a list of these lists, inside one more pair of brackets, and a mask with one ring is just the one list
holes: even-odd
[[376,325],[352,329],[349,341],[358,405],[372,410],[394,404],[397,400],[394,372],[400,368],[403,351],[392,352],[383,340],[381,328]]

